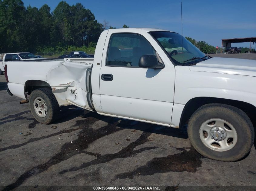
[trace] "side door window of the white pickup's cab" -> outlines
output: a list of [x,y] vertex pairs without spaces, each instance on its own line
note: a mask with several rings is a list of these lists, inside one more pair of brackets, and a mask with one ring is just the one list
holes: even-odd
[[106,66],[139,67],[139,59],[155,50],[148,41],[138,34],[113,34],[110,39]]

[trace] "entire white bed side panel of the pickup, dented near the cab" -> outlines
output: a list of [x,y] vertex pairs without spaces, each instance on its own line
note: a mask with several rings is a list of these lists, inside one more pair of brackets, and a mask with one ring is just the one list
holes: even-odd
[[[88,104],[90,99],[88,74],[90,74],[92,63],[93,58],[22,61],[22,65],[20,62],[8,62],[10,84],[8,87],[10,86],[12,94],[24,98],[26,81],[45,81],[52,87],[52,92],[60,106],[73,104],[91,110],[93,106],[91,103]],[[22,71],[22,78],[17,75],[20,71]],[[15,86],[12,87],[12,84],[20,84],[23,87],[22,91]]]

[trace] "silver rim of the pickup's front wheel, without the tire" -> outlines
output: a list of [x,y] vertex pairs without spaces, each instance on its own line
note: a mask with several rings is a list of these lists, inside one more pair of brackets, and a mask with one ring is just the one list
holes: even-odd
[[238,139],[234,126],[218,118],[205,121],[199,129],[199,135],[204,145],[214,151],[228,151]]

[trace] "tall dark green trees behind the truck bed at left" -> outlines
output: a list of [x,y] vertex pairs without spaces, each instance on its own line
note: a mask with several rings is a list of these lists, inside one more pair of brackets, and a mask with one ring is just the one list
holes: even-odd
[[[81,3],[61,1],[52,11],[45,4],[24,7],[21,0],[0,1],[0,52],[94,53],[102,24]],[[72,46],[72,48],[70,48]],[[88,46],[88,48],[87,48]]]

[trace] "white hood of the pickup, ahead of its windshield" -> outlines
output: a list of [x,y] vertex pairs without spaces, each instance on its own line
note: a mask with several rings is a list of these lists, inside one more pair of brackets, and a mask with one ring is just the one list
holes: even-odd
[[256,61],[248,59],[214,57],[189,66],[189,69],[198,72],[215,72],[256,77]]

